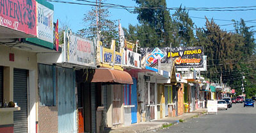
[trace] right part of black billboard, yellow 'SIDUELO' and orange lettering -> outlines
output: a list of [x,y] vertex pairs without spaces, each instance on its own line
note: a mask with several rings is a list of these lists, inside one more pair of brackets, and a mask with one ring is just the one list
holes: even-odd
[[202,47],[176,47],[172,57],[177,68],[204,67],[204,49]]

